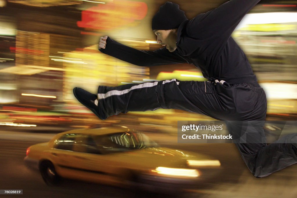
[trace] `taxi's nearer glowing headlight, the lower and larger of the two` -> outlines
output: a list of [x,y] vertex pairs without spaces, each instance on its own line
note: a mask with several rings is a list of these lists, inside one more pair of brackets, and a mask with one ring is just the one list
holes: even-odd
[[183,168],[167,168],[167,167],[157,167],[152,172],[157,172],[161,175],[177,176],[177,177],[199,177],[200,174],[196,169],[183,169]]

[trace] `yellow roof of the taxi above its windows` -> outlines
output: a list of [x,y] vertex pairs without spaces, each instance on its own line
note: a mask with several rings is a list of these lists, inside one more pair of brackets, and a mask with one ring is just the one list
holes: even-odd
[[89,135],[105,135],[116,132],[129,132],[127,127],[101,127],[94,129],[74,129],[66,132],[62,132],[59,135],[69,134],[69,133],[79,133],[79,134],[89,134]]

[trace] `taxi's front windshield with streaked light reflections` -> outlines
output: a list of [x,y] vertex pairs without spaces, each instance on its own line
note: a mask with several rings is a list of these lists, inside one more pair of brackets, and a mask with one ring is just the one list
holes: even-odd
[[119,132],[108,135],[94,135],[93,138],[97,147],[103,154],[158,146],[145,134],[139,132]]

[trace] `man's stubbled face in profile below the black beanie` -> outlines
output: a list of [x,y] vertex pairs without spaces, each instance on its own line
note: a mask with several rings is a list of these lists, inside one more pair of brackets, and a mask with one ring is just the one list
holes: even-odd
[[177,29],[171,30],[154,30],[157,35],[157,42],[162,46],[166,46],[166,49],[170,52],[176,50],[176,39],[177,39]]

